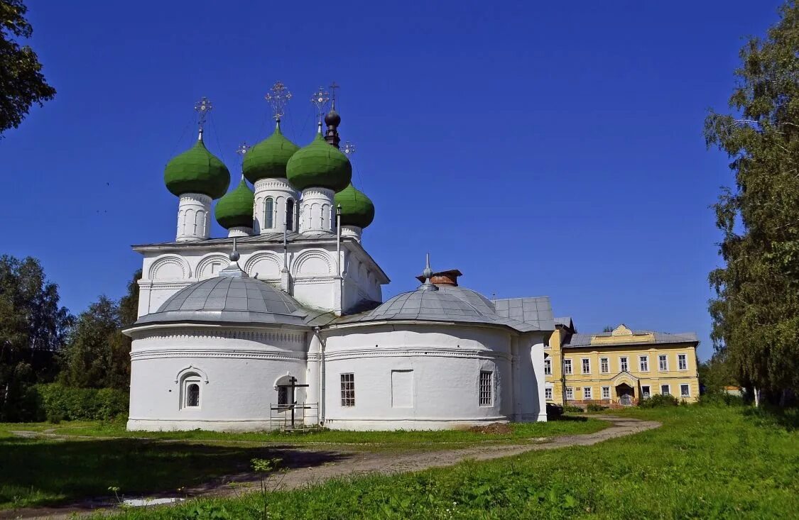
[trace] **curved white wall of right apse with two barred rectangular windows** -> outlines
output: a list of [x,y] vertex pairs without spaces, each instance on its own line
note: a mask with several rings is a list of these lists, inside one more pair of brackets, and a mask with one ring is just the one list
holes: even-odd
[[[360,325],[322,335],[326,427],[444,429],[511,420],[512,334],[506,329]],[[483,370],[493,372],[489,406],[479,404]],[[354,375],[353,407],[341,404],[342,373]]]

